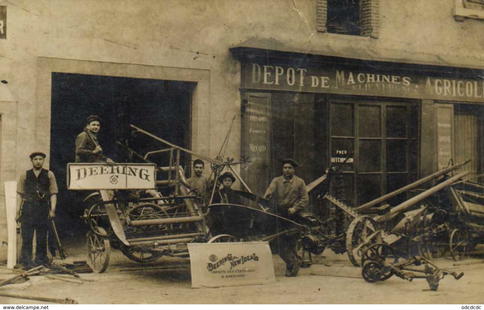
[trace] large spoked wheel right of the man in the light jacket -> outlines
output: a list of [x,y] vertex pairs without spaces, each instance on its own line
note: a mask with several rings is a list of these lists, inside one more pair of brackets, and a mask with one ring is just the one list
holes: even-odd
[[346,233],[346,250],[351,263],[358,267],[363,252],[374,243],[378,243],[377,222],[369,216],[357,217],[351,222]]

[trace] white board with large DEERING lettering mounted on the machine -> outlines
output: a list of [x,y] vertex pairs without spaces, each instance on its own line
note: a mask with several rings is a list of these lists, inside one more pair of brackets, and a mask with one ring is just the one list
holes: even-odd
[[155,164],[67,164],[68,189],[152,189],[155,183]]

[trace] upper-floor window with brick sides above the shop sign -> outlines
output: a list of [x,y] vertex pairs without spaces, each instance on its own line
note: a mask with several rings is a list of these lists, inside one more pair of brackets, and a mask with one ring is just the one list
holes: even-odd
[[317,0],[321,32],[378,38],[379,0]]

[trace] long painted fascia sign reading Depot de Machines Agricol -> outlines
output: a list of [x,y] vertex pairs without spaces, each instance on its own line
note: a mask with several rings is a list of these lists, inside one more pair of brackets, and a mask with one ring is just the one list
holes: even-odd
[[484,102],[484,79],[412,74],[242,63],[242,88]]

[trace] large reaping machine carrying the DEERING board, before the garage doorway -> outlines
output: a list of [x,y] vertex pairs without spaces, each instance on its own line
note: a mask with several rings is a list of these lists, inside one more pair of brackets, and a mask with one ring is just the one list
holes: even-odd
[[[95,272],[104,272],[108,267],[111,245],[128,258],[145,263],[163,255],[188,257],[187,244],[193,242],[269,241],[285,234],[302,236],[312,227],[321,226],[322,223],[312,214],[289,220],[271,212],[269,202],[252,194],[232,168],[244,164],[243,161],[235,163],[231,158],[224,161],[197,155],[132,127],[136,132],[168,145],[168,148],[141,155],[119,143],[133,158],[144,163],[68,165],[70,190],[95,191],[85,199],[94,200],[94,203],[84,214],[89,227],[87,262]],[[202,193],[188,185],[180,164],[181,152],[211,163],[214,180],[224,169],[236,175],[245,191],[234,192],[243,203],[234,205],[222,203],[223,200],[212,203],[216,201],[217,184],[210,194],[209,211],[202,210],[197,202],[199,199],[196,199]],[[149,159],[151,155],[160,153],[169,157],[166,167],[159,167]],[[230,216],[217,216],[221,213]],[[225,222],[227,219],[232,219],[232,222],[217,225],[217,221]]]

